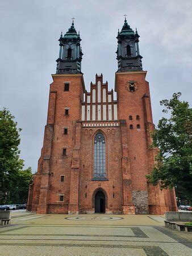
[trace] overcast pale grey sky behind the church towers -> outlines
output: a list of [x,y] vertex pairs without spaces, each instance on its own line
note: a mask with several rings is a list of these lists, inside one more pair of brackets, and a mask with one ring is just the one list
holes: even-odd
[[59,36],[74,15],[84,56],[86,89],[95,73],[114,88],[116,35],[124,17],[140,35],[143,69],[151,88],[153,120],[162,117],[159,101],[182,92],[190,101],[192,81],[191,0],[1,0],[0,106],[15,115],[21,158],[37,170],[47,119],[49,84],[59,54]]

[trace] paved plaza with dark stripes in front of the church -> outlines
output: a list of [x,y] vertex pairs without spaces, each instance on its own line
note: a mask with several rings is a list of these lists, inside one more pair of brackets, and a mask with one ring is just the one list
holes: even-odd
[[192,255],[192,233],[164,216],[12,214],[0,228],[0,255]]

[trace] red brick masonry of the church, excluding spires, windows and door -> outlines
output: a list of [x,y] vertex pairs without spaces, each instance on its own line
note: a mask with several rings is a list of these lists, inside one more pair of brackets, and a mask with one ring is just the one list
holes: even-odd
[[[112,98],[111,102],[112,105],[116,102],[118,108],[115,121],[114,114],[111,121],[103,118],[81,121],[81,106],[87,108],[84,93],[86,97],[91,95],[85,91],[83,75],[52,75],[43,148],[37,174],[30,186],[28,210],[94,213],[95,194],[99,190],[105,195],[106,213],[163,214],[177,210],[174,190],[161,191],[148,184],[145,178],[152,169],[157,151],[149,147],[154,125],[146,73],[115,74],[117,101]],[[101,81],[101,90],[107,89],[102,75],[96,75],[93,88],[98,81]],[[68,92],[64,91],[64,82],[70,82]],[[134,83],[134,92],[130,91],[130,82]],[[102,104],[96,100],[95,106]],[[65,115],[66,108],[68,115]],[[68,129],[67,134],[64,134],[64,127]],[[106,180],[93,180],[94,136],[98,131],[106,141]],[[66,156],[62,154],[63,148],[66,148]],[[60,201],[60,196],[64,196],[64,201]]]

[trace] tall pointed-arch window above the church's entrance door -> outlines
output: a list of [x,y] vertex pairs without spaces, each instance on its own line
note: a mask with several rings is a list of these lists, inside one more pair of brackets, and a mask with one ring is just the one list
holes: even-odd
[[105,137],[100,131],[94,137],[94,178],[106,178]]

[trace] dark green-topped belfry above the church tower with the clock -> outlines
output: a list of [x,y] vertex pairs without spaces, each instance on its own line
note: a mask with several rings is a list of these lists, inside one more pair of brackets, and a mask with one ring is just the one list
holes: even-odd
[[[126,15],[125,15],[126,16]],[[124,71],[141,71],[142,56],[139,54],[139,35],[137,29],[134,32],[128,25],[126,18],[122,31],[118,36],[118,49],[116,51],[116,59],[118,60],[118,72]]]

